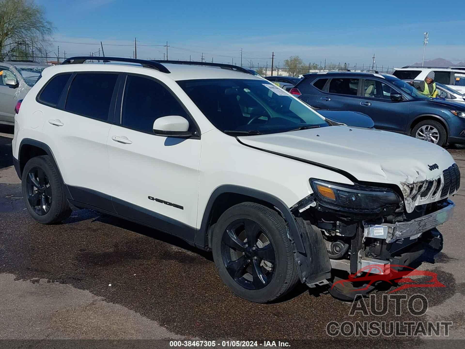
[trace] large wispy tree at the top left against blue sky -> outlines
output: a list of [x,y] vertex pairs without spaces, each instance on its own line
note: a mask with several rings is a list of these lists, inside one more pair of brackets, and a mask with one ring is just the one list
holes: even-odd
[[52,31],[52,23],[33,0],[0,0],[1,59],[43,54]]

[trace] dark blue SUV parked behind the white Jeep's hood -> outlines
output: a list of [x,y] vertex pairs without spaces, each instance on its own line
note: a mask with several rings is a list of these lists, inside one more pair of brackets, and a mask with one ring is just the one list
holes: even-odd
[[372,118],[375,128],[408,134],[443,146],[465,143],[465,105],[430,98],[389,74],[306,74],[290,91],[316,109],[351,110]]

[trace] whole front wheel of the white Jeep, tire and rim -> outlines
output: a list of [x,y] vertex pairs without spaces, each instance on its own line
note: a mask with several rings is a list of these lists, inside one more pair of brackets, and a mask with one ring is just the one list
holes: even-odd
[[[248,246],[252,239],[255,242]],[[243,202],[227,209],[215,225],[212,250],[223,282],[234,294],[251,302],[278,299],[290,292],[299,280],[286,222],[263,205]]]

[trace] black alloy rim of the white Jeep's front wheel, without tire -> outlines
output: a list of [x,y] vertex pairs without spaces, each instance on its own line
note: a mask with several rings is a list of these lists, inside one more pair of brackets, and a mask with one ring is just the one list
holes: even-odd
[[245,218],[231,222],[223,233],[221,255],[229,275],[245,289],[263,289],[272,281],[276,252],[257,222]]

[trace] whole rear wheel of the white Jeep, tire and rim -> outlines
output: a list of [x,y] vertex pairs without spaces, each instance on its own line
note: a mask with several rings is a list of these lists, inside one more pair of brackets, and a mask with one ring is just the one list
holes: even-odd
[[27,161],[21,185],[26,208],[39,223],[52,224],[71,215],[60,175],[49,156],[36,156]]

